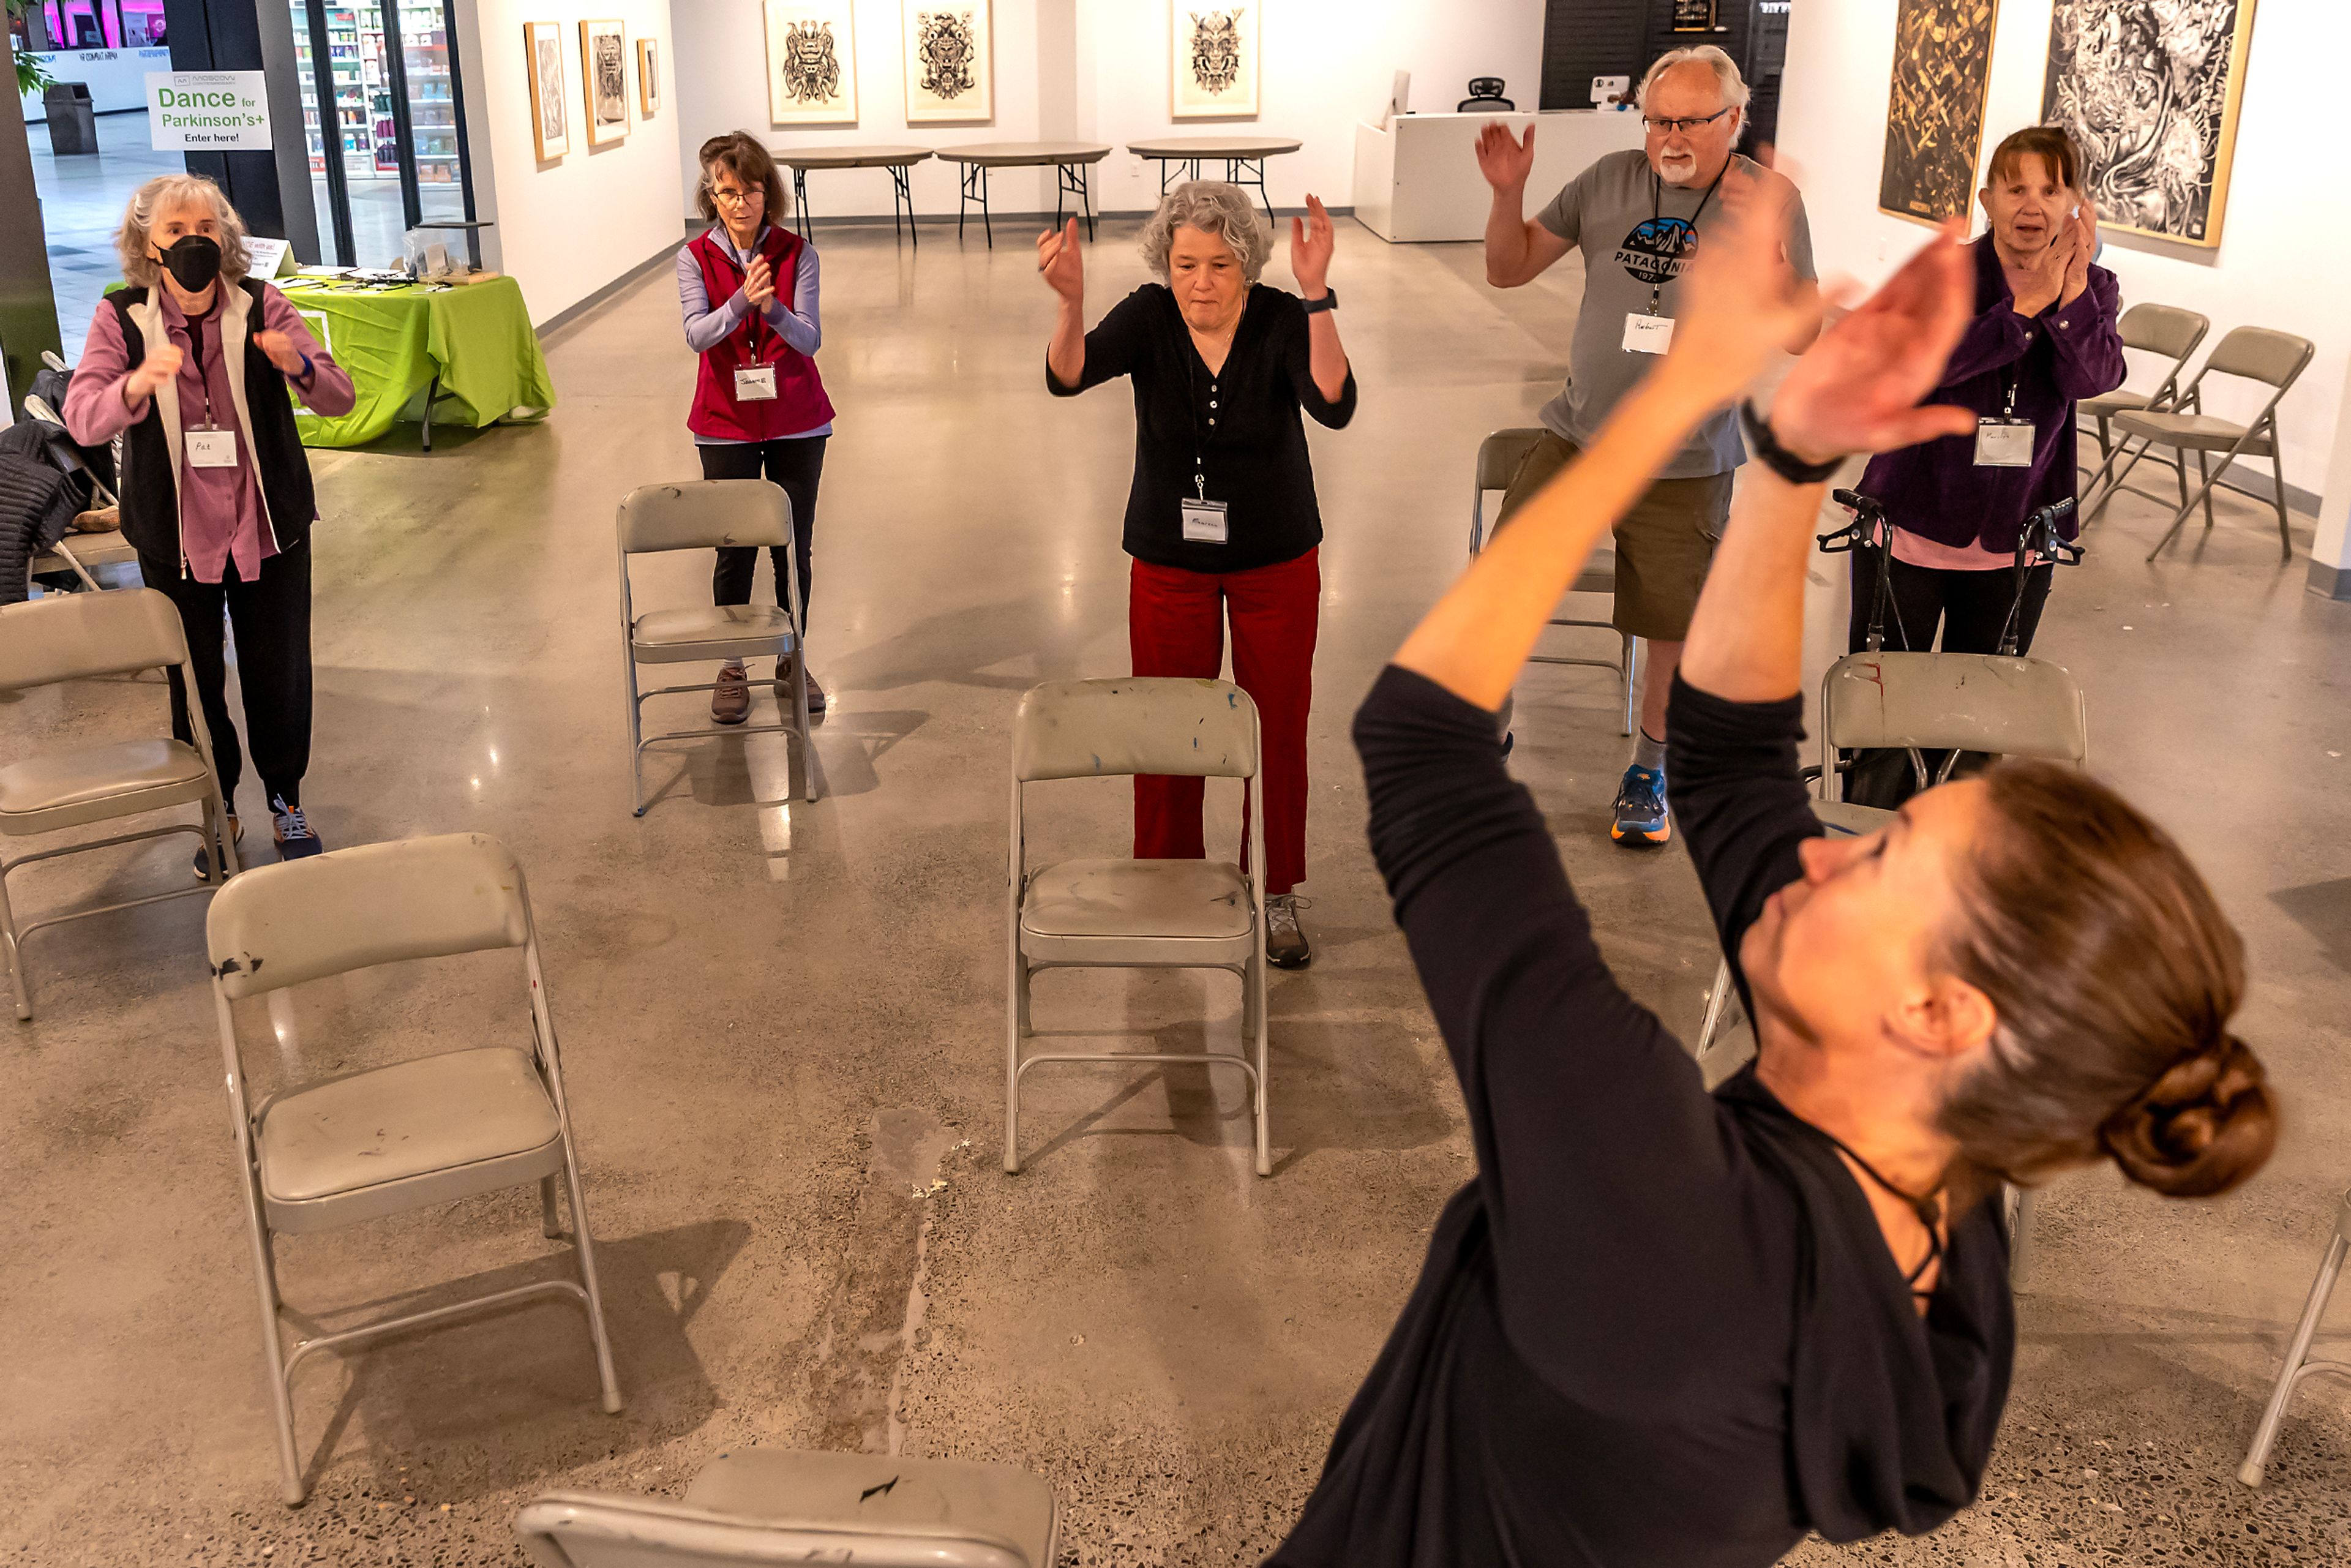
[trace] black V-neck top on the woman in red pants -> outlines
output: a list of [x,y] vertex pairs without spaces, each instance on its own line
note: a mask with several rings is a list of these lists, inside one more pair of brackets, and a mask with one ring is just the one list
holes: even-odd
[[[1246,571],[1298,559],[1321,543],[1314,465],[1300,409],[1333,430],[1354,418],[1354,369],[1338,402],[1314,386],[1307,308],[1295,294],[1251,284],[1223,369],[1192,348],[1176,294],[1147,282],[1086,334],[1086,369],[1056,397],[1112,376],[1136,383],[1136,482],[1126,491],[1126,552],[1154,567]],[[1194,456],[1223,501],[1225,543],[1183,536],[1183,501],[1197,494]]]

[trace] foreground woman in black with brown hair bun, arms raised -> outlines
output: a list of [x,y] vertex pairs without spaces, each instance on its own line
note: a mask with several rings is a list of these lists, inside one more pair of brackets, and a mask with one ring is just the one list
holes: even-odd
[[1829,458],[1916,409],[1968,317],[1933,242],[1784,381],[1672,693],[1674,809],[1756,1018],[1714,1095],[1601,959],[1493,710],[1596,536],[1820,303],[1737,193],[1674,348],[1495,536],[1357,717],[1371,839],[1479,1173],[1338,1427],[1284,1568],[1756,1568],[1977,1490],[2015,1345],[1998,1178],[2262,1164],[2241,943],[2177,846],[2045,764],[1824,839],[1796,776]]

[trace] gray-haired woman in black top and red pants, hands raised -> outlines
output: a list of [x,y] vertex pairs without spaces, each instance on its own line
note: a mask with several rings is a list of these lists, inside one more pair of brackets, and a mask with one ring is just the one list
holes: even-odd
[[[1321,611],[1321,510],[1300,409],[1333,430],[1354,418],[1354,374],[1331,310],[1331,216],[1307,197],[1291,219],[1291,273],[1305,294],[1258,282],[1272,235],[1239,186],[1187,181],[1143,226],[1143,284],[1086,331],[1077,219],[1037,237],[1037,270],[1060,294],[1044,383],[1074,397],[1112,376],[1136,383],[1133,559],[1126,639],[1136,675],[1215,679],[1232,616],[1232,679],[1258,705],[1265,799],[1265,957],[1312,959],[1295,886],[1307,875],[1307,705]],[[1241,823],[1241,863],[1248,823]],[[1201,780],[1136,778],[1136,858],[1199,860]]]

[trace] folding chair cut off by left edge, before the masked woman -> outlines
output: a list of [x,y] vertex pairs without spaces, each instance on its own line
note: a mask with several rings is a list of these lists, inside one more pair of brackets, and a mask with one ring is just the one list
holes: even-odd
[[[181,630],[179,611],[172,607],[172,599],[153,588],[108,595],[45,595],[0,609],[0,691],[24,691],[28,686],[52,686],[99,675],[136,675],[139,670],[179,670],[181,682],[188,682],[188,691],[195,691],[195,672],[188,668],[188,639]],[[110,823],[183,804],[202,809],[202,825],[165,823],[160,827],[141,827],[139,832],[118,832],[106,839],[42,849],[0,863],[0,938],[7,943],[7,978],[16,992],[16,1018],[33,1016],[33,994],[24,978],[24,938],[68,919],[134,910],[143,903],[162,903],[165,898],[212,893],[226,877],[235,875],[237,849],[221,832],[221,818],[228,813],[228,806],[221,802],[221,776],[212,766],[212,733],[205,729],[202,703],[188,703],[188,726],[195,745],[183,745],[169,736],[113,741],[61,752],[21,755],[19,762],[0,766],[0,837],[9,839]],[[9,872],[35,860],[136,844],[139,839],[162,839],[179,832],[193,832],[205,844],[212,863],[207,882],[179,886],[169,893],[68,910],[26,926],[16,924],[16,912],[7,898]]]

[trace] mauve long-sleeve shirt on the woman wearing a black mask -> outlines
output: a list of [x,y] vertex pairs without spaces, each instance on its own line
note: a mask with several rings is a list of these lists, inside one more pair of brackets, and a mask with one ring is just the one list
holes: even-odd
[[[226,287],[226,284],[223,284]],[[202,327],[205,353],[190,353],[195,346],[195,327],[190,327],[186,313],[181,313],[179,301],[172,299],[172,289],[158,284],[158,306],[162,308],[162,329],[186,357],[179,362],[179,428],[197,430],[216,425],[221,430],[235,430],[237,440],[237,465],[235,468],[197,468],[186,456],[179,465],[179,541],[181,555],[188,562],[190,576],[200,583],[219,583],[228,557],[237,559],[237,578],[252,583],[261,576],[261,562],[277,555],[277,541],[270,538],[270,529],[261,520],[261,480],[254,473],[254,454],[247,442],[245,430],[237,430],[237,404],[230,390],[230,376],[242,376],[245,367],[237,364],[230,371],[221,350],[221,306],[214,303],[197,324]],[[221,294],[214,294],[219,301]],[[334,418],[339,414],[350,414],[357,395],[350,388],[350,376],[341,364],[334,362],[310,329],[303,327],[301,313],[294,310],[292,301],[270,284],[261,284],[261,320],[259,324],[247,317],[247,331],[282,331],[294,350],[310,360],[310,369],[301,376],[287,376],[287,386],[294,395],[303,400],[315,414]],[[148,397],[141,397],[136,407],[122,402],[122,383],[129,381],[132,369],[129,350],[122,343],[122,317],[115,315],[113,306],[101,303],[99,313],[89,320],[89,336],[82,341],[82,360],[73,367],[73,381],[66,388],[66,430],[73,433],[85,447],[99,447],[115,440],[120,433],[136,425],[148,416]],[[209,409],[209,416],[207,416]],[[303,520],[308,522],[308,520]]]

